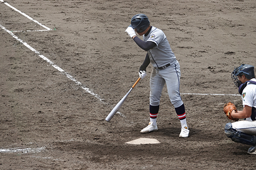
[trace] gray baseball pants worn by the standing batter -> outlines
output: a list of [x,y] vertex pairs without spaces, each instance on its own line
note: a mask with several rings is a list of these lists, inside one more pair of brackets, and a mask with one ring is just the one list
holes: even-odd
[[180,107],[183,101],[180,97],[180,64],[178,61],[163,70],[153,68],[150,77],[151,106],[158,106],[160,104],[165,83],[171,103],[175,108]]

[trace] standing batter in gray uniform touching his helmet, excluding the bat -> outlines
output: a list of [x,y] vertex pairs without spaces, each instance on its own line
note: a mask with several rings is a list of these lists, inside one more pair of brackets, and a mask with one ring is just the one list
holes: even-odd
[[[140,48],[147,52],[145,61],[139,69],[141,79],[145,78],[147,74],[146,68],[149,63],[153,65],[153,71],[150,77],[150,122],[148,126],[140,132],[149,133],[158,130],[156,118],[159,111],[162,90],[166,83],[169,98],[181,123],[179,137],[187,138],[189,130],[185,106],[180,97],[180,64],[172,52],[164,32],[151,26],[145,14],[134,15],[131,19],[131,25],[127,27],[125,32],[128,33]],[[143,36],[143,40],[137,37],[135,32],[137,32],[139,36]]]

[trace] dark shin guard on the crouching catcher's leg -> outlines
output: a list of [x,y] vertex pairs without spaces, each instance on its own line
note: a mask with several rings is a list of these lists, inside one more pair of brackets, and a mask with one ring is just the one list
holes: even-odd
[[256,138],[254,135],[249,135],[243,132],[238,132],[232,128],[231,123],[225,125],[225,134],[228,138],[231,138],[234,142],[243,143],[245,145],[255,146]]

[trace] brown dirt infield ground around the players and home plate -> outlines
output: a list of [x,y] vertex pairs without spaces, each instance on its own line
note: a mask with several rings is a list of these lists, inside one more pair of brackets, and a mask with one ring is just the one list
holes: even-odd
[[[250,146],[223,133],[230,121],[222,108],[243,107],[230,74],[242,63],[256,66],[256,1],[6,2],[51,30],[31,31],[44,28],[0,1],[0,24],[23,42],[0,29],[0,169],[254,169]],[[158,131],[140,133],[149,121],[151,65],[120,114],[105,121],[146,55],[124,32],[137,13],[165,32],[180,62],[187,139],[178,138],[166,88]],[[161,143],[125,143],[139,138]]]

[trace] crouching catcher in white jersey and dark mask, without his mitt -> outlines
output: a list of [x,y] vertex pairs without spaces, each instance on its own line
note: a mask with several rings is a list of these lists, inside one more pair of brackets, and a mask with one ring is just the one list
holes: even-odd
[[230,113],[234,119],[242,118],[243,121],[227,123],[225,134],[234,142],[243,143],[252,146],[248,149],[248,154],[256,154],[256,79],[254,67],[252,65],[242,64],[236,67],[231,73],[232,79],[242,96],[243,110]]

